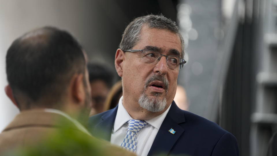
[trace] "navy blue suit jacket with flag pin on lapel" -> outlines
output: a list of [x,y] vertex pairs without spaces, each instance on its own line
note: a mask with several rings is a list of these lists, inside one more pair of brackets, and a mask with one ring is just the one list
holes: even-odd
[[[111,139],[117,107],[90,117],[92,135]],[[174,129],[175,134],[168,130]],[[105,129],[105,131],[103,131]],[[101,133],[102,132],[102,133]],[[181,110],[175,102],[163,120],[148,155],[236,156],[236,138],[216,123]]]

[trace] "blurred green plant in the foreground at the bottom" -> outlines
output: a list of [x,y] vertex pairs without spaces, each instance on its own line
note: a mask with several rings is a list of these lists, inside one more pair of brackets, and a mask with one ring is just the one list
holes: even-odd
[[[66,122],[62,122],[66,123]],[[5,156],[86,156],[112,155],[118,148],[111,146],[104,140],[83,133],[79,129],[72,129],[72,125],[62,124],[62,127],[36,144],[23,148],[16,148],[5,153]],[[121,149],[120,149],[121,150]],[[116,153],[116,152],[115,152]]]

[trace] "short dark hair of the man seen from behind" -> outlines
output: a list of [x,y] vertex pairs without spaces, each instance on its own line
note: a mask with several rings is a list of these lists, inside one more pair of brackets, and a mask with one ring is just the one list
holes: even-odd
[[[85,72],[79,43],[66,31],[43,27],[17,38],[6,55],[8,83],[33,101],[42,96],[60,99],[73,74]],[[20,101],[19,101],[20,103]]]

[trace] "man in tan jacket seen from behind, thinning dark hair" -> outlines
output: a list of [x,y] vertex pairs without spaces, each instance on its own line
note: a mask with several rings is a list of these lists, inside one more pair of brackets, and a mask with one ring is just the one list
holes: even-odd
[[[65,126],[71,135],[56,140],[62,142],[60,146],[53,141],[49,148],[41,147],[56,151],[39,147],[37,151],[70,155],[66,151],[81,153],[92,148],[101,155],[133,155],[94,138],[81,124],[85,124],[91,105],[88,70],[82,47],[68,32],[43,27],[17,38],[6,55],[6,73],[9,84],[5,92],[20,113],[0,133],[0,153],[28,149],[51,138],[50,134],[65,135],[59,133]],[[90,144],[78,146],[76,142],[84,138]],[[67,143],[70,146],[63,146]]]

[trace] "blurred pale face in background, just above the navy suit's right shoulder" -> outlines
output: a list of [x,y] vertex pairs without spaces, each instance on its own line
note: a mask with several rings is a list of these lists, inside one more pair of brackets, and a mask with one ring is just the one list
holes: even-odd
[[185,88],[182,87],[181,85],[177,85],[174,102],[180,109],[183,109],[186,111],[189,110],[189,104],[187,101],[187,93],[186,93]]

